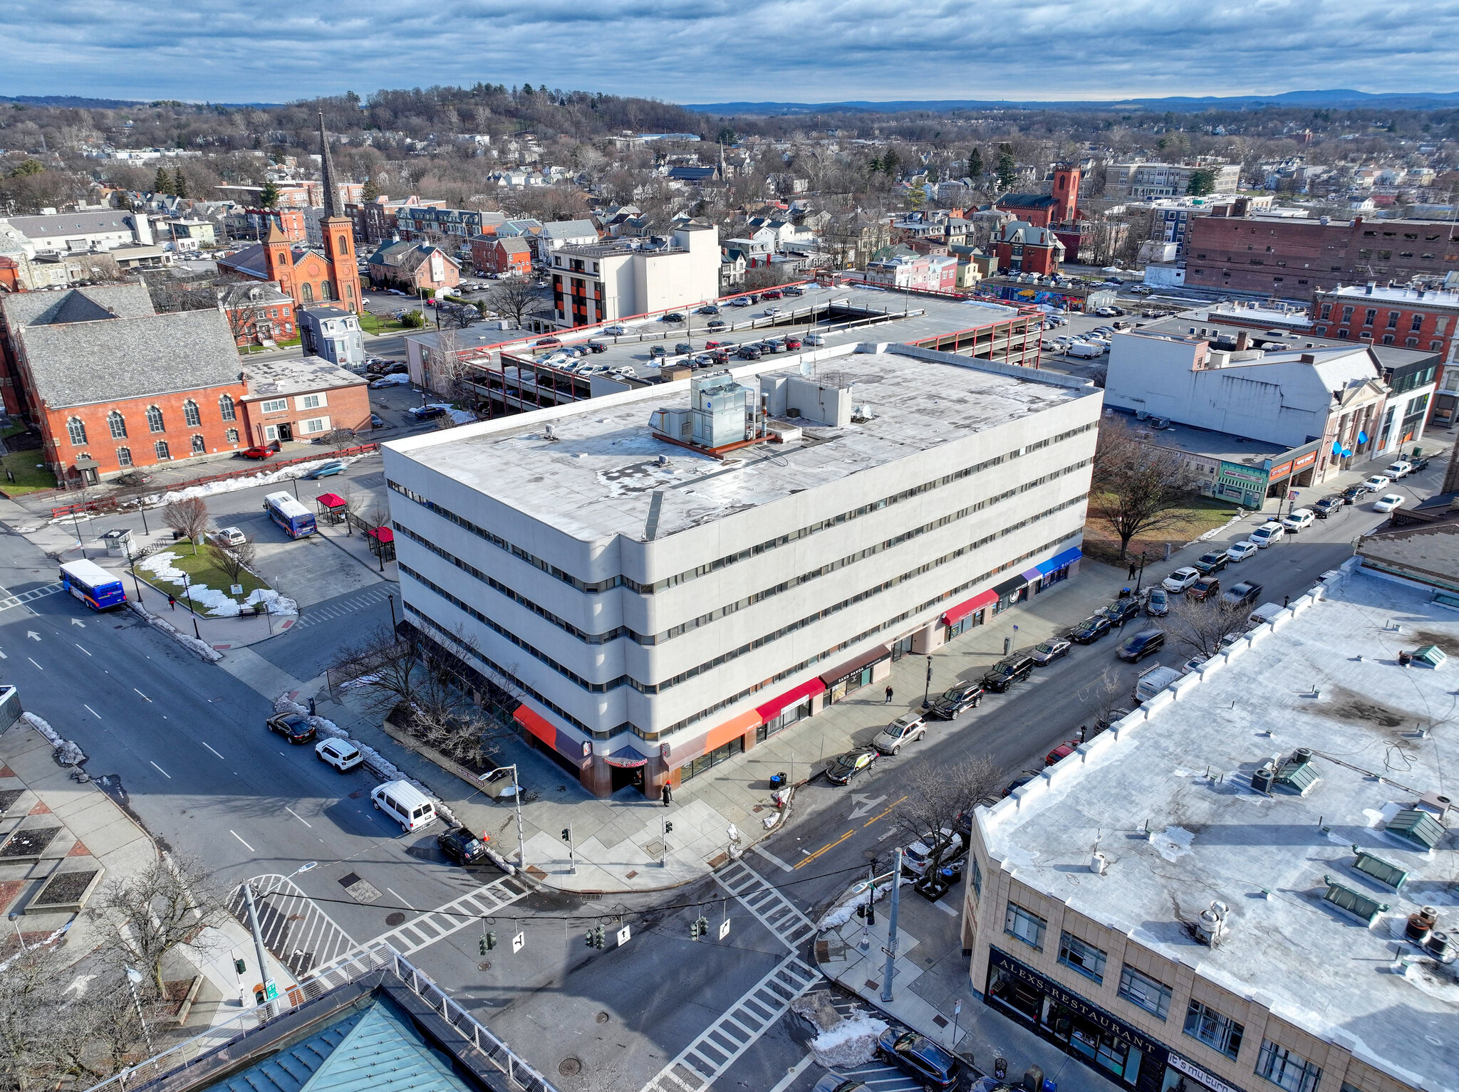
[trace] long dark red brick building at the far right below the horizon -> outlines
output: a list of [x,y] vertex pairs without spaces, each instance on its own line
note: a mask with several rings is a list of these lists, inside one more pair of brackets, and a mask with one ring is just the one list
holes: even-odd
[[1186,284],[1312,299],[1325,284],[1441,278],[1456,262],[1449,220],[1204,216],[1191,225]]

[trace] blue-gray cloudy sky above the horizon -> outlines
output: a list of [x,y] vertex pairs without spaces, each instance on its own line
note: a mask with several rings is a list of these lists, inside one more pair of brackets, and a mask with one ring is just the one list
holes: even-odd
[[1456,90],[1412,0],[9,0],[0,95],[546,83],[670,102]]

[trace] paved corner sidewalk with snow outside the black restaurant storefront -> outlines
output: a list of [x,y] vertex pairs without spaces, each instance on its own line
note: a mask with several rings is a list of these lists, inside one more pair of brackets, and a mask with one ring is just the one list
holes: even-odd
[[877,902],[877,924],[868,930],[867,952],[859,948],[862,923],[855,917],[817,939],[814,956],[821,974],[913,1031],[972,1054],[973,1064],[985,1073],[992,1073],[994,1058],[1001,1057],[1014,1083],[1034,1064],[1061,1092],[1109,1092],[1115,1086],[973,994],[961,949],[961,884],[937,902],[905,885],[900,900],[890,1002],[881,1000],[890,920],[886,900]]

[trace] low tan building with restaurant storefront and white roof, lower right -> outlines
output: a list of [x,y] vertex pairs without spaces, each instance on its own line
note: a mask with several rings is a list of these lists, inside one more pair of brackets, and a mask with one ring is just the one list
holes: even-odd
[[1433,596],[1350,561],[976,809],[975,994],[1135,1092],[1453,1088],[1459,748],[1420,720],[1399,773],[1354,711],[1453,701],[1376,623],[1459,639]]

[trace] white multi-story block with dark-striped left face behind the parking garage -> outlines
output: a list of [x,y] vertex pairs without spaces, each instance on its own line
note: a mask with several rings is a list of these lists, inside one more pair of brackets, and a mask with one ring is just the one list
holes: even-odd
[[719,295],[716,227],[676,227],[667,246],[620,239],[563,245],[550,255],[553,318],[560,327],[686,308]]

